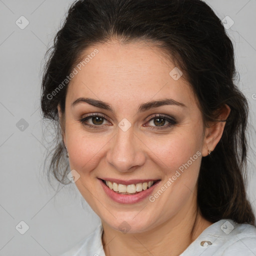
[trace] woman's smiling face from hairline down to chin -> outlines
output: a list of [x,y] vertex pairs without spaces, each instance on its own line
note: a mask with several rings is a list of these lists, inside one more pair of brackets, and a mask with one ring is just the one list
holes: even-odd
[[[100,44],[87,54],[68,85],[63,119],[70,169],[80,175],[77,188],[117,230],[142,232],[181,220],[194,209],[200,161],[207,155],[188,83],[177,79],[180,73],[159,49],[143,43]],[[138,191],[119,194],[101,179],[115,190]],[[139,192],[150,180],[157,182]]]

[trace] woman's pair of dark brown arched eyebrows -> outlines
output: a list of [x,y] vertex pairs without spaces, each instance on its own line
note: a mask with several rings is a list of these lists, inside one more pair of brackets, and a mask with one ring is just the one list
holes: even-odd
[[[88,104],[98,107],[98,108],[102,108],[102,109],[106,109],[111,112],[114,112],[108,103],[98,100],[98,99],[94,99],[94,98],[84,98],[84,97],[77,98],[71,104],[71,106],[75,106],[82,102],[88,103]],[[150,108],[155,108],[155,107],[163,106],[163,105],[177,105],[177,106],[181,106],[181,107],[187,107],[185,104],[178,102],[172,98],[164,98],[164,99],[160,99],[160,100],[148,101],[148,102],[145,102],[145,103],[139,105],[137,113],[146,111]]]

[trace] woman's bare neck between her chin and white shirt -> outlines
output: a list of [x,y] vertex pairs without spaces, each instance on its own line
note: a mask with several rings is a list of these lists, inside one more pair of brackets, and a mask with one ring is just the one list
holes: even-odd
[[102,244],[106,256],[122,255],[123,251],[135,256],[176,256],[211,224],[201,216],[193,196],[176,215],[146,232],[122,233],[102,221]]

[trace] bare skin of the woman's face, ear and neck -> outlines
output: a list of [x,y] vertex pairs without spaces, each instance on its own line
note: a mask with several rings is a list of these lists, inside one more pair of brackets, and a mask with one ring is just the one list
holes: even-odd
[[[203,126],[189,84],[182,76],[174,80],[169,75],[175,65],[153,45],[123,45],[113,40],[86,49],[86,54],[95,48],[99,52],[68,85],[65,112],[58,107],[70,169],[80,175],[75,184],[102,221],[107,256],[179,255],[212,224],[199,211],[196,214],[196,182],[201,157],[207,157],[208,149],[214,150],[225,122]],[[79,97],[107,102],[114,112],[85,102],[71,106]],[[182,102],[185,107],[163,105],[137,113],[140,104],[163,98]],[[219,117],[225,119],[229,112],[225,105]],[[89,128],[79,121],[91,113],[107,118],[100,128]],[[153,114],[175,118],[177,123],[167,127],[165,120],[165,128],[157,130]],[[123,118],[131,123],[127,131],[118,127]],[[90,118],[87,123],[93,125],[92,121]],[[98,180],[161,179],[155,193],[197,151],[200,156],[154,202],[148,198],[134,204],[115,202]],[[129,224],[126,233],[118,227],[123,221]]]

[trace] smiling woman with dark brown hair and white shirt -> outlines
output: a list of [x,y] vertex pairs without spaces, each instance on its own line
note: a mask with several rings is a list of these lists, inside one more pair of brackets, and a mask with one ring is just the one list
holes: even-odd
[[49,170],[101,224],[63,255],[256,254],[234,75],[203,1],[72,4],[42,80],[43,115],[59,124]]

